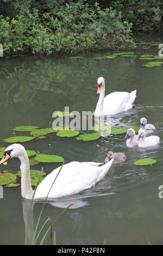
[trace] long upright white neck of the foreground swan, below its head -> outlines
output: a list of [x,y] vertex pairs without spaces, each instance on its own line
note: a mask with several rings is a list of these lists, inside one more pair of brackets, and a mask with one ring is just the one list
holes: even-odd
[[21,161],[21,192],[22,197],[26,199],[32,199],[33,189],[30,183],[30,165],[27,152],[25,151],[23,155],[19,157]]

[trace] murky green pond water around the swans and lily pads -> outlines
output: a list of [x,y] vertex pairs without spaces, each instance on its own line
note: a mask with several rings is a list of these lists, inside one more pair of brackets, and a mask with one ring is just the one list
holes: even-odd
[[[103,244],[161,244],[163,243],[163,199],[158,197],[158,187],[163,185],[163,66],[146,68],[152,60],[140,60],[141,54],[158,54],[158,47],[140,48],[134,57],[94,59],[112,52],[80,54],[82,59],[60,57],[0,58],[0,139],[1,147],[7,147],[3,139],[12,135],[12,129],[20,125],[52,127],[52,113],[64,111],[94,111],[98,100],[97,78],[105,78],[105,94],[137,89],[135,109],[117,114],[118,126],[140,125],[140,118],[156,126],[154,135],[160,136],[158,147],[148,149],[126,148],[125,135],[99,138],[92,142],[49,135],[23,143],[26,149],[39,149],[42,153],[56,154],[70,161],[102,162],[109,150],[124,152],[127,160],[114,165],[95,187],[71,197],[46,204],[43,220],[55,217],[70,203],[69,209],[55,224],[58,245]],[[24,135],[18,133],[18,135]],[[25,133],[28,134],[28,133]],[[133,162],[153,157],[153,166],[135,166]],[[14,159],[8,166],[0,166],[16,173],[19,162]],[[37,164],[48,174],[58,163]],[[0,199],[0,244],[23,244],[29,208],[28,200],[21,197],[21,187],[3,187]],[[35,203],[30,220],[28,242],[39,217],[42,203]],[[25,223],[24,223],[25,222]],[[49,237],[45,241],[49,244]]]

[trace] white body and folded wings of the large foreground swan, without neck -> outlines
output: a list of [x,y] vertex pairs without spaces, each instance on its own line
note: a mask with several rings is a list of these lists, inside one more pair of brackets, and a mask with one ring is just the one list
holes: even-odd
[[[93,164],[95,163],[93,162]],[[48,197],[57,198],[76,194],[94,186],[104,177],[106,172],[108,172],[111,164],[112,160],[104,164],[102,167],[93,166],[92,162],[88,162],[88,165],[86,162],[84,164],[80,162],[65,164],[54,182]],[[47,196],[49,188],[52,186],[59,169],[60,167],[53,170],[52,173],[46,176],[39,187],[37,187],[34,199],[45,198]]]

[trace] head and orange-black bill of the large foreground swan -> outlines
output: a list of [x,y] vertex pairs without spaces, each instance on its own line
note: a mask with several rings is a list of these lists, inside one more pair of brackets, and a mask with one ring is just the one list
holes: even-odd
[[0,161],[0,164],[7,162],[12,157],[22,157],[26,153],[25,148],[21,144],[12,144],[4,150],[4,157]]

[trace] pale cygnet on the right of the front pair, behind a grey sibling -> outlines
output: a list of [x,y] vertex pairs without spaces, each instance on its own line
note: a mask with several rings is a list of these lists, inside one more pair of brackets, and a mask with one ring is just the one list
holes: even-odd
[[140,141],[138,147],[147,148],[159,144],[160,138],[158,136],[149,136],[146,138],[146,132],[143,129],[140,129],[137,141]]

